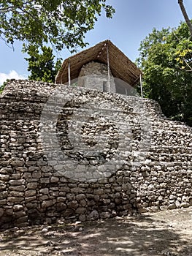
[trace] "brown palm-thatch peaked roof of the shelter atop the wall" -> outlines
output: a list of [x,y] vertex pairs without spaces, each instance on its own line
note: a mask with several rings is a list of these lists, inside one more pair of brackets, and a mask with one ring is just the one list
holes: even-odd
[[55,78],[55,83],[67,83],[69,80],[68,67],[70,63],[71,80],[78,78],[80,69],[90,61],[107,64],[107,48],[109,53],[110,69],[115,78],[120,78],[131,86],[135,86],[142,74],[141,70],[122,53],[110,40],[82,50],[80,53],[65,59]]

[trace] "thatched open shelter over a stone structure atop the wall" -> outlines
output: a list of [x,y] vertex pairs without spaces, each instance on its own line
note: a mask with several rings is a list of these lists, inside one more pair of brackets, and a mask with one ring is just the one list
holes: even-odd
[[[134,87],[141,77],[141,70],[110,40],[82,50],[64,60],[55,83],[71,85],[78,79],[78,86],[128,94],[128,86]],[[90,77],[95,76],[92,82]],[[89,76],[89,78],[83,78]]]

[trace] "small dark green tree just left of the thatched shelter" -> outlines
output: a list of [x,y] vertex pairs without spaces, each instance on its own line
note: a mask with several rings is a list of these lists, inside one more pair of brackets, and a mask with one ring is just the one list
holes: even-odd
[[30,57],[26,60],[28,61],[28,71],[31,72],[28,79],[54,83],[58,69],[61,67],[61,59],[54,62],[53,50],[43,46],[39,53],[39,49],[31,46],[28,55]]

